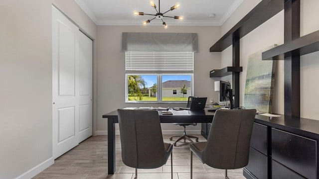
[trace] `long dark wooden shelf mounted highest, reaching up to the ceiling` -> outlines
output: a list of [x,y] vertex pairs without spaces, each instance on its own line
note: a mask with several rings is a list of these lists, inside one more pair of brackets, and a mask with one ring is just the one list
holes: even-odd
[[233,37],[238,37],[238,39],[242,38],[283,9],[284,0],[262,0],[233,28],[211,46],[209,51],[221,52],[225,50],[232,45]]

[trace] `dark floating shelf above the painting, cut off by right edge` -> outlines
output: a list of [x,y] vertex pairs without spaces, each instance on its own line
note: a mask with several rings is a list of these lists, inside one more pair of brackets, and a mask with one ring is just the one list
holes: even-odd
[[319,51],[319,31],[263,52],[262,60],[284,60],[284,57],[301,56],[316,51]]

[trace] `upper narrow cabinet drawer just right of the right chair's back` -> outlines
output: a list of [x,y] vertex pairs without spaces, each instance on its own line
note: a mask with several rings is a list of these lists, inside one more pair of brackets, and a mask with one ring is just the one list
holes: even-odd
[[254,123],[251,140],[250,140],[250,146],[258,150],[259,152],[265,155],[268,155],[267,141],[268,141],[267,126]]

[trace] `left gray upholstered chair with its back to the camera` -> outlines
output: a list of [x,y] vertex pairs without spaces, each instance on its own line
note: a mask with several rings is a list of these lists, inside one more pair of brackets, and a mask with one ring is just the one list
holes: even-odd
[[163,142],[160,117],[156,110],[118,109],[123,163],[137,169],[163,166],[170,155],[173,178],[172,148]]

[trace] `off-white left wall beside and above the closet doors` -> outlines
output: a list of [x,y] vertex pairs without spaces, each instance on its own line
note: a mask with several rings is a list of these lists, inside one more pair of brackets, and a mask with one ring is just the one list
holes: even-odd
[[[96,36],[73,0],[54,1]],[[0,179],[32,178],[53,163],[51,4],[0,0]]]

